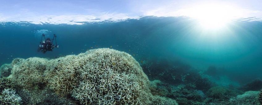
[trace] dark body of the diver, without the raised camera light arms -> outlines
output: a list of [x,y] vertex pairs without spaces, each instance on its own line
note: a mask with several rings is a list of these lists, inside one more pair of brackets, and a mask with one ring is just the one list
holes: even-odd
[[46,51],[53,51],[54,48],[53,43],[50,40],[43,40],[42,43],[39,45],[38,52],[42,51],[45,53]]

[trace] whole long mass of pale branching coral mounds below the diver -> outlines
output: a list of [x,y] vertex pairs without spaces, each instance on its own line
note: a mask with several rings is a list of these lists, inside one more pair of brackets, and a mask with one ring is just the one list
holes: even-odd
[[109,48],[52,60],[16,58],[11,66],[1,88],[14,84],[24,104],[177,104],[152,95],[139,63]]

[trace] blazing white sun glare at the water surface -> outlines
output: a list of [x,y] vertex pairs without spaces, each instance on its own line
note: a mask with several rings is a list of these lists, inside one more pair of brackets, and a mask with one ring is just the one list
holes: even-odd
[[184,11],[185,15],[198,19],[205,29],[220,29],[231,19],[239,17],[241,13],[233,6],[222,4],[202,4],[192,6]]

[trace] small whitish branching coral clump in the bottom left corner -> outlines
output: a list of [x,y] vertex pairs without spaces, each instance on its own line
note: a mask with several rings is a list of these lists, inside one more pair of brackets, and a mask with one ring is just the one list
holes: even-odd
[[0,96],[0,103],[2,104],[21,104],[22,99],[15,93],[14,89],[4,89]]

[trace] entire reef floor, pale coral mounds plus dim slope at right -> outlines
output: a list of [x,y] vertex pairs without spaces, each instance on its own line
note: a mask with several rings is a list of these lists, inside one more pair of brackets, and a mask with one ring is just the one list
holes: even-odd
[[50,60],[16,58],[0,68],[0,104],[262,104],[259,79],[234,88],[214,82],[215,67],[202,73],[180,62],[159,62],[137,62],[109,48]]

